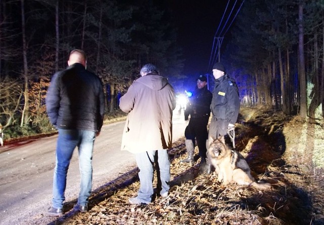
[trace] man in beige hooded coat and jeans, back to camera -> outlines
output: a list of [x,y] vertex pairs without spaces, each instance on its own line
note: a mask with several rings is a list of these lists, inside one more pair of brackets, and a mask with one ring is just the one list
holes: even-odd
[[[130,198],[132,204],[150,203],[153,196],[153,165],[159,174],[160,195],[168,196],[170,189],[170,160],[168,149],[172,146],[172,111],[176,107],[173,87],[161,77],[152,64],[142,67],[141,78],[134,81],[120,98],[119,107],[129,113],[121,150],[135,154],[140,172],[138,196]],[[156,159],[157,160],[154,160]]]

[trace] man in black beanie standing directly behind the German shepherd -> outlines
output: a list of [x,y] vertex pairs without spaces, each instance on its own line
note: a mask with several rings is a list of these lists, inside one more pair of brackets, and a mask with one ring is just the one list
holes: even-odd
[[[211,103],[212,120],[209,126],[209,140],[217,139],[227,134],[227,131],[235,128],[239,113],[238,88],[234,79],[225,72],[222,63],[217,62],[213,66],[215,88]],[[208,141],[209,143],[209,141]],[[207,144],[209,147],[209,144]],[[207,156],[206,172],[212,172],[212,165]]]

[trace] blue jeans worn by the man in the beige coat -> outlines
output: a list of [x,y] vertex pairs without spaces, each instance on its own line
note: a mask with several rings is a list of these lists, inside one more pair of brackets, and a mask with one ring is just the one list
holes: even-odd
[[[157,157],[156,157],[157,153]],[[157,158],[157,161],[154,160]],[[135,154],[135,159],[140,172],[140,189],[137,198],[143,203],[150,203],[153,195],[153,173],[154,161],[157,163],[157,183],[160,183],[160,194],[168,193],[170,186],[170,160],[167,149],[148,151]],[[158,187],[159,188],[159,187]]]

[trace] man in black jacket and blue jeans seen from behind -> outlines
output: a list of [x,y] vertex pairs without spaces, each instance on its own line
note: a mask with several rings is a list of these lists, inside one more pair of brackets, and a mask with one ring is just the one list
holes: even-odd
[[86,70],[85,52],[78,49],[71,51],[67,63],[69,67],[54,74],[46,97],[48,117],[59,132],[52,207],[48,209],[50,216],[63,214],[66,175],[76,146],[81,182],[74,208],[80,212],[88,211],[93,145],[100,134],[105,109],[102,83],[99,77]]

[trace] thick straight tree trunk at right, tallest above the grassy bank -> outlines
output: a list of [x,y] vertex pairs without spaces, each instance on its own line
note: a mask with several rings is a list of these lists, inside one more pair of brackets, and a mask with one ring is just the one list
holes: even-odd
[[305,55],[304,55],[304,27],[303,27],[303,9],[304,4],[299,2],[299,33],[298,33],[298,49],[299,49],[299,81],[300,81],[300,117],[307,117],[307,98],[306,98],[306,72],[305,72]]

